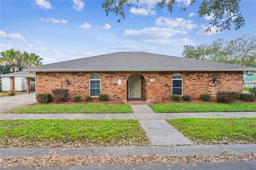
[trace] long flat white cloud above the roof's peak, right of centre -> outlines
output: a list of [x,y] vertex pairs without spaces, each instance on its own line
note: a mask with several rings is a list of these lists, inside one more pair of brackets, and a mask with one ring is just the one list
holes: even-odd
[[123,33],[126,38],[142,41],[166,39],[176,34],[184,35],[187,34],[187,32],[182,30],[175,30],[173,28],[150,27],[144,28],[142,30],[125,30]]

